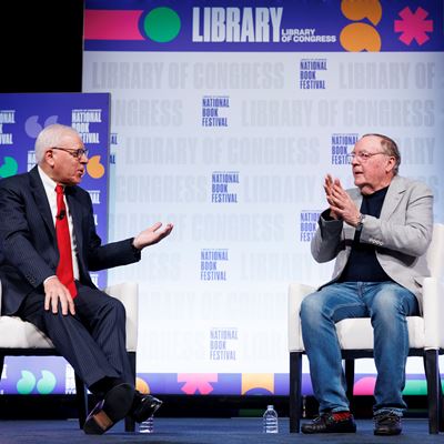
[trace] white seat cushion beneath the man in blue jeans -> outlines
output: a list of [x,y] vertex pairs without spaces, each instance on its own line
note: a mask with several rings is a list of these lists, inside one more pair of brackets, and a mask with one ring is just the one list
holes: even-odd
[[[411,349],[423,349],[424,320],[408,316],[408,345]],[[372,350],[373,327],[370,317],[346,319],[336,324],[337,337],[343,350]]]

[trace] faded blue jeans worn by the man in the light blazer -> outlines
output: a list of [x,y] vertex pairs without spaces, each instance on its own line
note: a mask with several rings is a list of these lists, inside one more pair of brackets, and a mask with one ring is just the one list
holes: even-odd
[[402,415],[408,355],[405,316],[417,313],[415,295],[395,282],[333,283],[303,300],[302,337],[321,414],[350,410],[335,323],[345,317],[371,317],[377,370],[373,412]]

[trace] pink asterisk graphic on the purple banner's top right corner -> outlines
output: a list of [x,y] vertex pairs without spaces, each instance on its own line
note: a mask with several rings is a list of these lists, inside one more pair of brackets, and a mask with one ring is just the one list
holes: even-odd
[[421,46],[425,43],[430,37],[426,32],[433,31],[433,20],[425,20],[428,12],[421,7],[413,13],[408,7],[405,7],[400,16],[402,20],[395,20],[395,32],[402,32],[400,40],[405,44],[411,44],[415,39]]

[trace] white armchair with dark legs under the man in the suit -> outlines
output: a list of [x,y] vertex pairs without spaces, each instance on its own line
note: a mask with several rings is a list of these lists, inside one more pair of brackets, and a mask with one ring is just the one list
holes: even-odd
[[[138,284],[125,282],[109,286],[105,293],[119,299],[127,311],[127,351],[135,375],[135,353],[138,346]],[[1,282],[0,282],[1,312]],[[0,375],[4,356],[53,356],[59,355],[52,342],[33,324],[17,316],[0,316]],[[88,394],[83,382],[75,375],[75,395],[79,408],[79,425],[83,427],[88,415]],[[134,431],[134,422],[127,417],[125,430]]]

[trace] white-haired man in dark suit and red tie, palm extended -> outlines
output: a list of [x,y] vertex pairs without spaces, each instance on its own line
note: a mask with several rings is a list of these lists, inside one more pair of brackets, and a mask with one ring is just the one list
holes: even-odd
[[[102,434],[128,414],[144,421],[161,402],[135,391],[124,307],[98,290],[89,272],[140,261],[142,249],[160,242],[173,226],[158,222],[135,238],[102,245],[90,195],[78,186],[88,163],[79,133],[71,127],[47,127],[36,140],[36,159],[29,173],[0,181],[2,314],[43,331],[100,396],[85,433]],[[62,231],[64,244],[59,242]],[[67,261],[69,271],[61,273]]]

